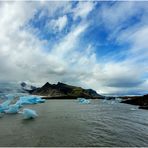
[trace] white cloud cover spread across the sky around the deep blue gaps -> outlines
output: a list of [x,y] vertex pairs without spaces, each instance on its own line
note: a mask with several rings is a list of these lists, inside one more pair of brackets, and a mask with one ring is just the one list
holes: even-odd
[[[131,11],[133,5],[130,3],[128,8],[126,6],[124,8]],[[80,46],[81,35],[89,28],[90,22],[87,16],[95,7],[93,2],[79,2],[74,10],[70,2],[43,2],[42,4],[40,2],[7,2],[2,3],[0,7],[0,80],[30,80],[37,83],[64,81],[94,88],[102,93],[128,92],[136,88],[145,90],[147,87],[147,80],[141,78],[143,73],[148,71],[147,65],[142,66],[141,63],[137,64],[133,60],[137,54],[134,50],[136,47],[141,51],[141,59],[147,52],[147,26],[136,27],[135,30],[133,29],[134,33],[128,29],[125,32],[119,29],[115,33],[119,37],[116,42],[127,40],[132,43],[132,48],[128,51],[130,54],[122,62],[115,63],[108,60],[107,63],[103,63],[97,61],[94,47],[90,43],[86,43],[87,47]],[[123,10],[119,14],[120,7],[116,8],[115,12],[113,8],[108,12],[103,10],[101,14],[104,23],[110,22],[111,25],[109,25],[115,28],[119,26],[120,19],[126,18],[122,19]],[[54,22],[52,26],[58,31],[66,27],[68,12],[73,12],[74,19],[81,17],[82,21],[72,25],[70,32],[52,45],[50,52],[45,52],[44,45],[48,40],[40,40],[34,34],[34,28],[23,28],[38,9],[44,10],[40,17],[52,16],[57,10],[61,11],[59,18],[52,20]],[[111,14],[107,16],[109,13]],[[135,9],[134,12],[130,12],[131,15],[133,13]]]

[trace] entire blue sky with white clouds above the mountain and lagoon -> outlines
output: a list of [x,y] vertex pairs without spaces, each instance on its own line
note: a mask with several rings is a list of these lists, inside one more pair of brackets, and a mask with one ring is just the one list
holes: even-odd
[[0,2],[0,82],[148,93],[148,1]]

